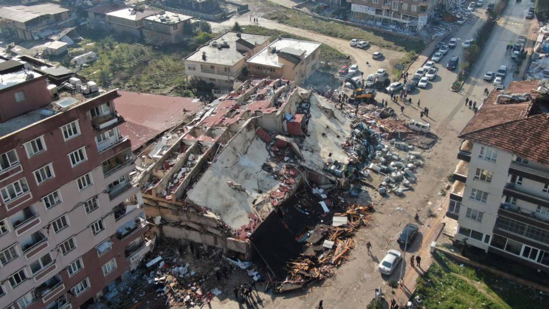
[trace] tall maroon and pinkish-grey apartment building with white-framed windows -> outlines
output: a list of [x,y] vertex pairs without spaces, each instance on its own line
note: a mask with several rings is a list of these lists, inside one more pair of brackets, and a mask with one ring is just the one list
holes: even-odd
[[0,60],[2,308],[79,308],[150,250],[119,94],[53,80]]

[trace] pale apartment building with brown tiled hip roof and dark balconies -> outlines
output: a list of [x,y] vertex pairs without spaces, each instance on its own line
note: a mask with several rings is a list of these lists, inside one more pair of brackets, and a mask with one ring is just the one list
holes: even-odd
[[492,92],[458,137],[447,216],[455,238],[549,272],[549,95],[537,81]]

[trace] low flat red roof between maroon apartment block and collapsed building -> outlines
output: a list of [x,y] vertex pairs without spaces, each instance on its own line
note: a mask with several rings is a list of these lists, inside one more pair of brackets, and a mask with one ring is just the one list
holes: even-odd
[[126,120],[120,130],[130,137],[132,150],[192,118],[204,107],[194,98],[120,90],[118,93],[120,97],[114,100],[116,111]]

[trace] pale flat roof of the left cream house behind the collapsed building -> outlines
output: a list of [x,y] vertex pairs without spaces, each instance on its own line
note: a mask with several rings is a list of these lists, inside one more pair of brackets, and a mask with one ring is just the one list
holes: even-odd
[[[214,40],[211,40],[210,42],[208,42],[208,44],[201,46],[194,53],[188,55],[185,60],[195,61],[199,63],[211,63],[232,66],[237,64],[238,61],[245,58],[243,53],[237,50],[236,41],[242,39],[247,43],[256,46],[264,44],[270,37],[271,36],[267,35],[256,35],[254,33],[240,33],[240,37],[238,37],[237,32],[229,31],[224,35],[215,38]],[[217,43],[222,43],[223,41],[226,41],[228,43],[228,48],[217,48],[211,46],[211,43],[214,41]],[[206,59],[203,59],[203,53],[205,53]]]

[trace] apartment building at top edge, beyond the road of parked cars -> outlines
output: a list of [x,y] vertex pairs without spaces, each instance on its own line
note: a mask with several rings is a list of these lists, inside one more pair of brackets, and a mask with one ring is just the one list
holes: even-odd
[[372,26],[422,32],[437,0],[349,0],[351,20]]

